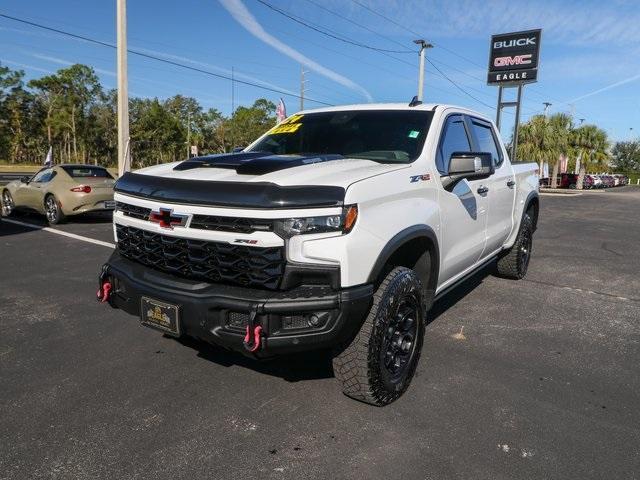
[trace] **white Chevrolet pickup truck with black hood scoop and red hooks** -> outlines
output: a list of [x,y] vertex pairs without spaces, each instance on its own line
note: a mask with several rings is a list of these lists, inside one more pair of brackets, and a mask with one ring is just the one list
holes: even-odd
[[374,405],[409,386],[434,301],[495,259],[524,277],[539,209],[491,120],[416,103],[303,111],[115,192],[100,301],[256,358],[331,350]]

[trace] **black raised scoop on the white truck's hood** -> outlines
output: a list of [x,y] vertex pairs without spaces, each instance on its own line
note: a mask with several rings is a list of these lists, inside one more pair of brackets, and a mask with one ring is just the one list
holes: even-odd
[[228,168],[238,175],[265,175],[287,168],[301,167],[314,163],[341,160],[344,157],[332,155],[273,155],[269,152],[240,152],[231,154],[196,157],[179,163],[174,170],[192,170],[195,168]]

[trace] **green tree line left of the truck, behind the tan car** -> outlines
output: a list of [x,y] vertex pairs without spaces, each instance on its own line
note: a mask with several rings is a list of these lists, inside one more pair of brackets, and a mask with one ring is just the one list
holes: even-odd
[[[49,147],[55,163],[117,164],[117,92],[105,90],[86,65],[25,81],[0,64],[0,162],[41,164]],[[134,168],[199,153],[246,146],[275,125],[273,102],[258,99],[230,117],[204,109],[195,98],[130,98],[130,151]]]

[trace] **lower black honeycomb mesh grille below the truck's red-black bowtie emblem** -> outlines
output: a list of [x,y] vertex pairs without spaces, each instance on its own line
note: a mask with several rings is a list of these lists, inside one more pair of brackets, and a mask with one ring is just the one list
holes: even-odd
[[116,232],[124,257],[186,278],[274,290],[284,274],[282,247],[176,238],[117,224]]

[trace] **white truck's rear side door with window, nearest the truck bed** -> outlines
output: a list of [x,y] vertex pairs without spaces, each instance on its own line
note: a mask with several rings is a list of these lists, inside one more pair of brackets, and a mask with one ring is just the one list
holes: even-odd
[[513,228],[513,202],[516,181],[511,163],[505,158],[496,131],[486,120],[469,117],[469,126],[477,152],[488,152],[494,160],[495,173],[484,182],[487,191],[487,240],[482,256],[502,247]]

